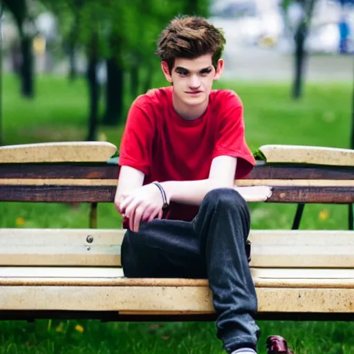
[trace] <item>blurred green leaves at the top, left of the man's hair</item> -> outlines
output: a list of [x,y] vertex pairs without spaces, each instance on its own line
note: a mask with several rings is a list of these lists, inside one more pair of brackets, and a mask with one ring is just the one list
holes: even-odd
[[[41,2],[56,14],[65,40],[74,36],[82,46],[89,46],[95,32],[100,57],[115,57],[123,68],[131,64],[149,66],[156,60],[153,53],[160,31],[170,19],[185,14],[189,6],[189,0]],[[198,14],[206,16],[208,7],[209,0],[198,0]]]

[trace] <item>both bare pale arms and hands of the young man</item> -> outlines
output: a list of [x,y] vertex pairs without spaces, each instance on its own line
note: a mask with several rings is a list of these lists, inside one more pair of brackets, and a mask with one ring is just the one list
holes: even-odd
[[[234,187],[236,158],[218,156],[214,158],[209,178],[192,181],[167,181],[161,185],[167,201],[201,205],[205,195],[212,189]],[[115,207],[129,219],[130,230],[137,232],[140,221],[151,221],[162,217],[163,200],[160,190],[152,183],[142,187],[144,174],[131,167],[122,167],[115,196]],[[272,194],[270,187],[236,187],[246,201],[265,201]]]

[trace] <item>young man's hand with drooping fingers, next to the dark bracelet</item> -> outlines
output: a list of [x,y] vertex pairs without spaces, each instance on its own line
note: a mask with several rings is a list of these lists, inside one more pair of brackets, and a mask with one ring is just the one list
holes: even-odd
[[[167,196],[169,203],[169,196]],[[129,218],[129,229],[138,232],[140,222],[149,222],[156,218],[162,218],[163,198],[156,185],[150,183],[134,190],[124,198],[119,205],[120,212]]]

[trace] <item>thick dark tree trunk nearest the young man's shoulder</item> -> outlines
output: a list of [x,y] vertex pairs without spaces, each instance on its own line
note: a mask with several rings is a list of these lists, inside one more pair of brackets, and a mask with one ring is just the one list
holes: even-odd
[[107,59],[106,111],[102,123],[116,126],[123,111],[124,72],[115,58]]

